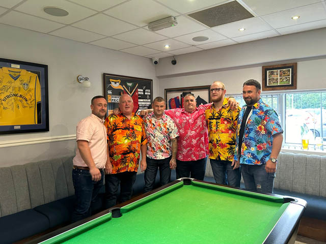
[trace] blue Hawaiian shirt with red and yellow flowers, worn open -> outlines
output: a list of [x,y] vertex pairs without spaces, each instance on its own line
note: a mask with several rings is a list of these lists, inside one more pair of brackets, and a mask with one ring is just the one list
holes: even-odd
[[283,129],[275,110],[260,98],[253,105],[252,114],[244,128],[242,145],[238,145],[242,117],[246,108],[246,105],[241,108],[238,118],[234,159],[238,160],[240,154],[241,164],[262,165],[270,157],[273,135],[283,133]]

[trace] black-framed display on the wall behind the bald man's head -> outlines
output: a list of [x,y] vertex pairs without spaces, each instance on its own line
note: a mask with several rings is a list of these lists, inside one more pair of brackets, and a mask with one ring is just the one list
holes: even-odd
[[129,94],[134,102],[132,112],[152,108],[153,80],[114,74],[103,74],[104,97],[107,115],[118,107],[122,94]]

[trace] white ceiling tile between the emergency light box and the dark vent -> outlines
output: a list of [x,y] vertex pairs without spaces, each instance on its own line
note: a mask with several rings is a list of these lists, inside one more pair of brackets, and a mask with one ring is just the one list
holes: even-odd
[[155,33],[162,34],[168,37],[177,37],[206,29],[206,27],[197,23],[195,20],[188,19],[184,16],[177,17],[177,21],[178,24],[176,26],[161,29],[160,31],[157,31]]

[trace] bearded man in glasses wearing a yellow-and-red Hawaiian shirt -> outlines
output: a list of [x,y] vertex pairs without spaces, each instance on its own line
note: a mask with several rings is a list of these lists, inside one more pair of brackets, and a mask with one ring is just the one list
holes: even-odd
[[205,111],[208,125],[209,160],[216,183],[240,187],[239,163],[233,161],[235,132],[240,107],[232,110],[225,98],[225,85],[214,81],[209,89],[213,102]]

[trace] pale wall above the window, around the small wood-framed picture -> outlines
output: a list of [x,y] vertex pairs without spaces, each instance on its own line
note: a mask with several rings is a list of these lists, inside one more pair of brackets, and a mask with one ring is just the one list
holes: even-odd
[[226,84],[228,94],[241,93],[248,79],[261,83],[264,65],[297,62],[297,89],[326,88],[326,28],[241,43],[160,59],[155,67],[160,96],[165,88]]

